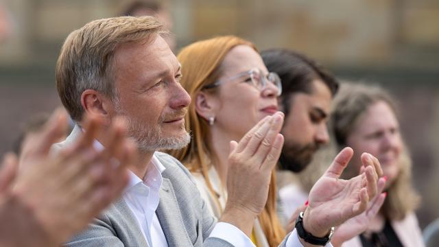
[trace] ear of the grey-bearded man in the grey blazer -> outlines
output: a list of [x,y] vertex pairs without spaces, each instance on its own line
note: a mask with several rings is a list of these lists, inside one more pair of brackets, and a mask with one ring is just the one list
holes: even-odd
[[81,95],[82,108],[88,115],[94,115],[104,121],[110,121],[114,106],[110,98],[93,89],[87,89]]

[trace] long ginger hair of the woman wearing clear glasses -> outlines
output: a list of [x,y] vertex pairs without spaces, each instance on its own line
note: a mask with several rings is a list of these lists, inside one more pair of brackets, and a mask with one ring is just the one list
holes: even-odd
[[[195,98],[195,95],[200,93],[204,86],[213,84],[219,78],[222,73],[224,57],[230,49],[237,45],[248,45],[257,51],[252,43],[235,36],[220,36],[202,40],[180,51],[178,60],[182,64],[182,74],[184,75],[180,83],[192,98]],[[209,92],[215,93],[215,89],[209,89]],[[191,102],[189,112],[185,116],[185,126],[187,130],[191,130],[193,136],[191,143],[182,150],[172,150],[169,153],[185,164],[191,172],[200,172],[206,180],[209,190],[215,195],[208,171],[211,164],[217,161],[217,157],[212,152],[209,124],[196,113],[194,101]],[[276,177],[275,173],[272,172],[268,201],[263,212],[259,215],[259,221],[270,246],[277,246],[285,237],[285,231],[276,214],[276,193]],[[213,197],[219,207],[217,198]]]

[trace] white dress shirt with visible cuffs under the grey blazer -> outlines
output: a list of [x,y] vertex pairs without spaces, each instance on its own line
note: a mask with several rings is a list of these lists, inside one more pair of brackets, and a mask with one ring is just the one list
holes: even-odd
[[[97,150],[104,149],[104,146],[95,141],[94,146]],[[159,202],[158,191],[163,182],[162,172],[165,170],[163,164],[158,161],[155,154],[152,156],[151,164],[143,180],[136,174],[130,172],[130,182],[123,192],[123,200],[137,219],[139,226],[147,243],[151,247],[167,247],[165,233],[161,228],[156,215]],[[217,237],[232,244],[233,246],[254,246],[252,240],[247,237],[239,228],[226,222],[215,224],[209,237]],[[286,243],[287,247],[303,247],[300,244],[296,229],[289,235]],[[332,247],[329,243],[326,247]]]

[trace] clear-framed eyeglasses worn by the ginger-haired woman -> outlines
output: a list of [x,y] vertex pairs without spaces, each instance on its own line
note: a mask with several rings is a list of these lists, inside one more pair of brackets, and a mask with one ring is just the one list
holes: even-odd
[[236,79],[242,79],[242,82],[248,82],[251,83],[254,87],[259,89],[259,91],[263,91],[267,85],[268,82],[276,86],[277,89],[277,96],[280,96],[282,93],[282,83],[281,78],[279,78],[279,75],[277,75],[274,72],[270,72],[267,75],[263,75],[263,72],[261,69],[253,68],[249,71],[245,71],[242,73],[239,73],[237,75],[234,75],[230,78],[227,78],[226,80],[219,80],[213,84],[204,86],[204,89],[213,89],[216,86],[219,86],[221,84],[224,84],[226,82],[230,82]]

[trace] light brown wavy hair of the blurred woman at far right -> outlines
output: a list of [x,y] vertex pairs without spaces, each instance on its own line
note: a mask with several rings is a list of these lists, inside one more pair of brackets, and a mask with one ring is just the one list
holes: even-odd
[[[346,139],[353,131],[361,116],[376,102],[385,102],[396,115],[394,99],[379,86],[364,84],[342,84],[340,93],[333,102],[333,114],[330,126],[335,135],[338,148],[346,146]],[[420,202],[420,196],[412,186],[412,160],[410,154],[403,147],[399,161],[399,174],[388,188],[381,212],[390,220],[403,220],[410,211],[414,211]],[[346,167],[345,178],[356,176],[353,167]]]

